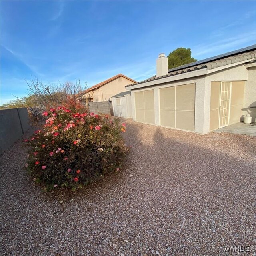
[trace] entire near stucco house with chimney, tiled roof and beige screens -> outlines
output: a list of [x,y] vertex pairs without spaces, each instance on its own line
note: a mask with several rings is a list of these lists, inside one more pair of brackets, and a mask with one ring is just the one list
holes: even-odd
[[138,122],[206,134],[240,122],[255,122],[256,45],[168,70],[160,54],[156,76],[126,86]]

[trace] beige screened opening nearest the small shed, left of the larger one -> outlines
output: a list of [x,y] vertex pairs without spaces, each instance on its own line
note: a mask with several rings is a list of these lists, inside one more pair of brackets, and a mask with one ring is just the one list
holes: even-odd
[[136,121],[148,124],[155,123],[154,90],[135,92]]

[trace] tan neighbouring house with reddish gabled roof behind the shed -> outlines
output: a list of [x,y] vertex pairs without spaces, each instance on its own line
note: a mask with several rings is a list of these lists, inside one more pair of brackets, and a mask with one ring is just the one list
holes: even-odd
[[90,98],[90,102],[108,101],[112,96],[123,92],[131,82],[136,83],[133,79],[118,74],[86,90],[86,98]]

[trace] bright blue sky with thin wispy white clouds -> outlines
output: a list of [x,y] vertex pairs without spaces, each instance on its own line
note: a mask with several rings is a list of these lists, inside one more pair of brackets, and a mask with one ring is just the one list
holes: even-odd
[[93,86],[156,74],[178,47],[198,60],[256,43],[255,1],[1,1],[1,104],[24,78]]

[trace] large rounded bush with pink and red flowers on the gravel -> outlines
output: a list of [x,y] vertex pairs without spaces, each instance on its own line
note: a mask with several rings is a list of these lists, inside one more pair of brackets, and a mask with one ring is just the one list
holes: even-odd
[[93,113],[51,108],[41,130],[26,141],[26,168],[48,188],[81,188],[98,176],[119,170],[127,152],[125,124]]

